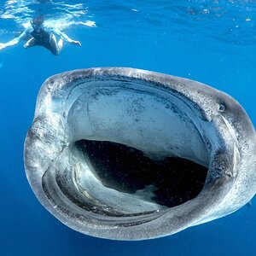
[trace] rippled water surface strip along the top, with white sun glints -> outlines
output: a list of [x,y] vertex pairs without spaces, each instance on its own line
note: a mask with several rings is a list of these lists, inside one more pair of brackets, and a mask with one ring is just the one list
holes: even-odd
[[[36,15],[47,24],[65,29],[72,25],[113,26],[137,32],[176,33],[200,36],[229,44],[255,44],[255,1],[6,1],[0,9],[0,29],[22,25]],[[15,30],[15,29],[14,29]]]

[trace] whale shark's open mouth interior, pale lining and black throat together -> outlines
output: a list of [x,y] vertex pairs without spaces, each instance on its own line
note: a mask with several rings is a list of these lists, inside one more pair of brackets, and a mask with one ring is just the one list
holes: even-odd
[[86,91],[65,109],[69,144],[53,164],[68,200],[86,211],[123,217],[176,207],[201,192],[207,146],[185,102],[139,81],[79,86]]

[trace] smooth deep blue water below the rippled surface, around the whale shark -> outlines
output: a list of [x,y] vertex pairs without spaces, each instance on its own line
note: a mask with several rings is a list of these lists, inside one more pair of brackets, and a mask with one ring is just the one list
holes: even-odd
[[[61,224],[40,205],[26,181],[23,143],[36,97],[50,75],[84,67],[137,67],[195,79],[224,90],[255,113],[256,51],[197,34],[132,23],[70,28],[82,47],[65,44],[60,56],[22,44],[0,52],[0,255],[256,255],[256,207],[151,241],[108,241],[84,236]],[[256,17],[255,17],[256,18]],[[0,41],[6,41],[1,38]],[[255,201],[255,200],[254,200]]]

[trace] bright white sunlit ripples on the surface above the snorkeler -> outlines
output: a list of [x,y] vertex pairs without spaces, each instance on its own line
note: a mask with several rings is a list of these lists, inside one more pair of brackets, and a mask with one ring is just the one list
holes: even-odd
[[6,31],[9,30],[9,25],[13,21],[16,25],[27,27],[32,17],[37,15],[44,15],[45,26],[55,26],[61,30],[72,25],[96,26],[95,21],[89,20],[92,15],[84,3],[69,2],[50,0],[7,1],[0,11],[0,19],[9,21],[5,23]]

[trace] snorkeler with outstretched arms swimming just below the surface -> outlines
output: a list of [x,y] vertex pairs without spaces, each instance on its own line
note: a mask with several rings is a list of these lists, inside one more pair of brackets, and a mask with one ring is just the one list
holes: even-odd
[[[60,37],[58,42],[55,35]],[[61,53],[63,40],[70,44],[81,46],[79,41],[68,38],[67,35],[61,32],[59,29],[44,26],[44,17],[38,16],[37,18],[32,19],[30,26],[28,26],[18,38],[13,39],[6,44],[0,43],[0,50],[8,46],[18,44],[20,40],[27,37],[29,37],[29,40],[26,42],[26,44],[24,44],[24,48],[40,45],[44,46],[46,49],[49,49],[53,55],[59,55]]]

